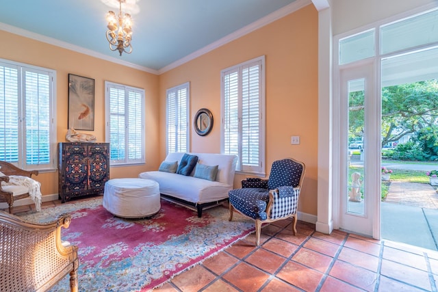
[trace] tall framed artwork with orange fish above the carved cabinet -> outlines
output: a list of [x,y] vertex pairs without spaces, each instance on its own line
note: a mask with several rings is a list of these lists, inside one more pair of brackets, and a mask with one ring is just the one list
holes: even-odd
[[94,79],[68,74],[68,129],[94,130]]

